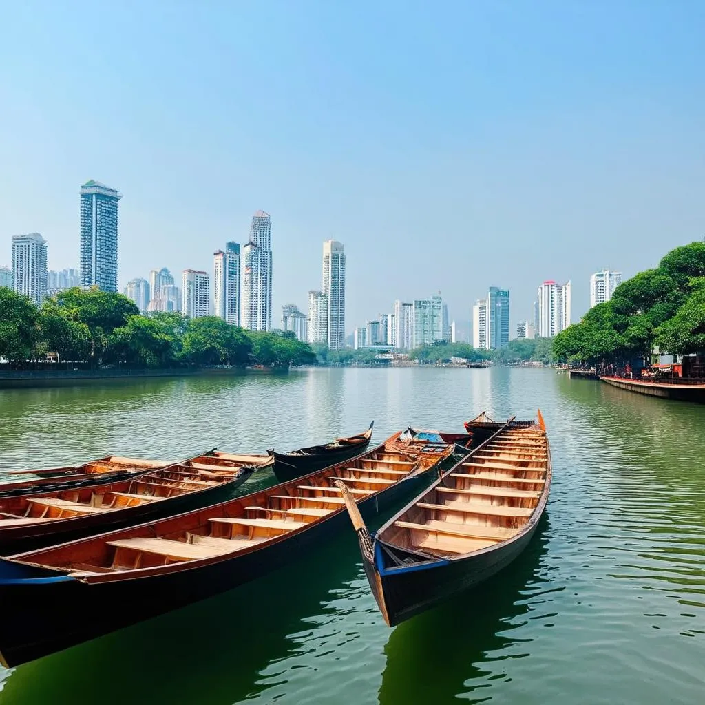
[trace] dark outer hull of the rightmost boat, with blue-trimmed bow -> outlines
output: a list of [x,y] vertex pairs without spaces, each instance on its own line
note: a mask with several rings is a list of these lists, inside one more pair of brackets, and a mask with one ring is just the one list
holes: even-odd
[[[537,519],[525,534],[484,553],[425,566],[387,569],[384,574],[376,570],[363,552],[367,580],[386,622],[390,627],[398,625],[503,570],[526,548],[538,524]],[[375,543],[375,551],[381,551],[379,542]]]

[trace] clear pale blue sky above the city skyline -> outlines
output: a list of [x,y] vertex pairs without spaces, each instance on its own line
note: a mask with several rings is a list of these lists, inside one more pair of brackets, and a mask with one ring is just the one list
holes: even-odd
[[118,188],[119,278],[212,273],[272,218],[274,321],[348,255],[347,327],[441,290],[471,317],[629,276],[705,235],[705,2],[4,3],[0,264],[78,266],[78,189]]

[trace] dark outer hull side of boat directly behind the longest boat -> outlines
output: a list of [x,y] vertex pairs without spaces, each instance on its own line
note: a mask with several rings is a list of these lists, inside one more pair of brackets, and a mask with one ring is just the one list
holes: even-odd
[[11,556],[14,553],[63,544],[66,541],[103,534],[115,529],[124,529],[216,504],[231,498],[233,490],[243,484],[250,474],[251,471],[244,472],[241,477],[232,482],[223,482],[204,491],[183,494],[115,512],[90,514],[66,521],[38,522],[27,527],[2,529],[0,531],[0,555]]

